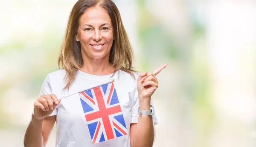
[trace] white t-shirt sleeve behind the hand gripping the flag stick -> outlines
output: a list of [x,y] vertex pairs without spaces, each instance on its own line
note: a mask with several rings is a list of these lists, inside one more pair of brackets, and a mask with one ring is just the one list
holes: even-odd
[[[51,82],[50,82],[50,78],[49,78],[49,74],[46,76],[46,78],[44,79],[44,83],[41,87],[41,91],[39,93],[39,97],[41,95],[50,95],[52,94],[52,88],[51,88]],[[57,115],[58,114],[58,109],[55,107],[55,109],[53,110],[52,115]]]

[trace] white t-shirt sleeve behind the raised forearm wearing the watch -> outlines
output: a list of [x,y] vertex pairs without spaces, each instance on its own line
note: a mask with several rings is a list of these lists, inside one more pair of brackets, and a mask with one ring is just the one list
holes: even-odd
[[[131,104],[131,123],[137,123],[139,119],[139,107],[140,107],[137,87],[136,89],[133,90],[133,92],[129,93],[129,96],[132,100],[134,100],[134,102]],[[153,105],[152,98],[151,98],[151,105]],[[154,108],[154,105],[153,105],[153,108]],[[156,125],[158,123],[157,116],[155,113],[155,109],[153,109],[153,111],[154,111],[153,123],[154,125]]]

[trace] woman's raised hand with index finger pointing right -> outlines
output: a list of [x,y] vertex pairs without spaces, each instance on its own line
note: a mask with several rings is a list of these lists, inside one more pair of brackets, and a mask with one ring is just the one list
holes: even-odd
[[137,79],[137,89],[139,94],[139,101],[150,102],[151,96],[158,87],[158,81],[155,77],[168,64],[163,64],[154,72],[142,72]]

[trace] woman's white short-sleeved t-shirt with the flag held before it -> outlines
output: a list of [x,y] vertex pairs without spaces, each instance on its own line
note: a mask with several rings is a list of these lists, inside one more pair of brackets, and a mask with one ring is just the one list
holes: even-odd
[[[131,147],[130,124],[138,121],[139,74],[134,79],[121,70],[113,77],[79,70],[69,90],[64,89],[65,74],[64,69],[48,74],[39,95],[62,98],[51,114],[57,115],[55,147]],[[157,124],[155,113],[153,122]]]

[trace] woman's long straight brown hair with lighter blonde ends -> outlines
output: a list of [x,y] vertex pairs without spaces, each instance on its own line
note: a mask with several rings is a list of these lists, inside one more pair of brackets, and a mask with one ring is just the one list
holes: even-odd
[[83,66],[81,45],[80,42],[76,42],[75,40],[79,27],[79,19],[86,9],[96,5],[102,6],[108,12],[113,25],[113,36],[115,40],[111,46],[109,63],[114,67],[115,72],[120,69],[134,77],[133,72],[135,71],[132,69],[133,51],[116,5],[111,0],[79,0],[73,6],[70,13],[58,57],[58,69],[61,66],[67,72],[65,75],[67,85],[64,89],[69,89],[76,78],[78,69]]

